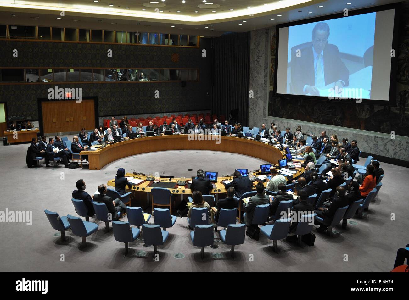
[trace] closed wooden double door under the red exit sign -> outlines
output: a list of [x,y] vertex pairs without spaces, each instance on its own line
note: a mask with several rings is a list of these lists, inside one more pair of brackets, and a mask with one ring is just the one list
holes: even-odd
[[43,132],[80,132],[95,128],[95,110],[93,99],[43,101]]

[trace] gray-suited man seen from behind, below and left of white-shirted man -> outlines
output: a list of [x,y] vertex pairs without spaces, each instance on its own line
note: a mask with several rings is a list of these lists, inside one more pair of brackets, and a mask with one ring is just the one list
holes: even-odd
[[[260,235],[260,228],[257,224],[252,225],[254,211],[257,205],[270,204],[270,197],[265,195],[264,186],[261,182],[256,185],[257,195],[250,197],[248,203],[244,205],[244,211],[246,212],[244,222],[247,225],[246,234],[254,240],[258,240]],[[267,221],[267,220],[266,220]]]

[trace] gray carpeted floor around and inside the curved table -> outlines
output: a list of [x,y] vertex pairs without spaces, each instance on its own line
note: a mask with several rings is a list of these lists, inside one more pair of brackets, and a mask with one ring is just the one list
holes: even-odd
[[[175,226],[168,229],[168,241],[158,247],[159,262],[153,260],[153,247],[145,248],[143,241],[130,243],[130,253],[124,256],[124,244],[114,240],[112,227],[105,233],[105,224],[92,218],[90,221],[99,224],[99,230],[87,238],[86,248],[80,246],[81,237],[70,231],[66,233],[69,242],[61,244],[59,232],[52,229],[43,210],[75,215],[71,193],[77,179],[83,178],[86,191],[92,194],[99,184],[115,177],[118,167],[128,172],[135,168],[138,172],[190,177],[199,168],[222,175],[232,173],[234,168],[255,170],[264,161],[232,153],[194,150],[127,157],[99,171],[69,170],[63,166],[45,168],[44,161],[40,168],[28,169],[24,163],[28,146],[0,146],[3,174],[0,210],[33,212],[31,226],[0,224],[2,271],[390,271],[397,249],[409,242],[409,169],[381,163],[386,173],[383,186],[366,217],[354,217],[346,230],[339,224],[333,228],[335,234],[331,238],[315,232],[315,246],[301,248],[281,240],[278,242],[281,253],[276,254],[267,246],[272,242],[265,236],[260,235],[259,241],[246,236],[245,244],[236,246],[235,260],[229,257],[230,247],[220,244],[218,249],[206,247],[202,261],[200,249],[190,241],[186,217],[178,217]],[[395,220],[391,220],[392,213]],[[138,251],[146,251],[146,256],[140,256]],[[176,259],[175,253],[185,257]]]

